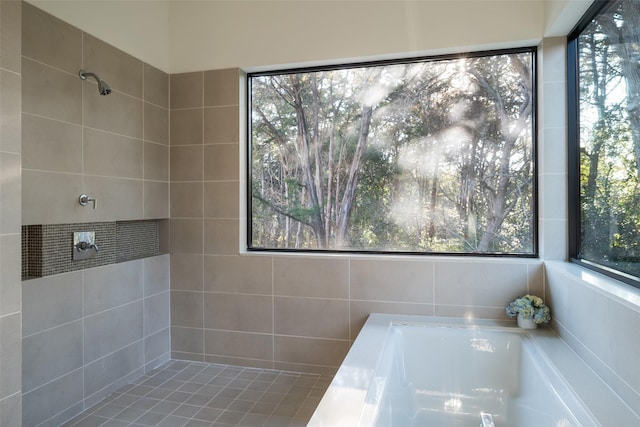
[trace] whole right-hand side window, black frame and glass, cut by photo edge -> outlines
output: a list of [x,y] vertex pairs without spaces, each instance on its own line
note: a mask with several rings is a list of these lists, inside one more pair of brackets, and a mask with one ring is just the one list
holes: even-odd
[[597,1],[568,48],[570,256],[640,287],[640,2]]

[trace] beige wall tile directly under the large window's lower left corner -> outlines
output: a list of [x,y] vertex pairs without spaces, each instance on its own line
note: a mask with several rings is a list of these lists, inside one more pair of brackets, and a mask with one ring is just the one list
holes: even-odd
[[271,295],[271,257],[205,255],[205,291]]

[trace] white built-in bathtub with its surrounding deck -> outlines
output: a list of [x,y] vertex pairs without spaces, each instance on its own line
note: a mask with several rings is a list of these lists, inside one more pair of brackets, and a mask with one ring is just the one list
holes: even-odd
[[510,324],[370,315],[308,426],[640,425],[553,331]]

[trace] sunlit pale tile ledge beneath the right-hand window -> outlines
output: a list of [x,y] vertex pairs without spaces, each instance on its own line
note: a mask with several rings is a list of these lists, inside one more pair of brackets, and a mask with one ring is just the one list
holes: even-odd
[[547,274],[561,274],[640,312],[640,289],[567,261],[545,261]]

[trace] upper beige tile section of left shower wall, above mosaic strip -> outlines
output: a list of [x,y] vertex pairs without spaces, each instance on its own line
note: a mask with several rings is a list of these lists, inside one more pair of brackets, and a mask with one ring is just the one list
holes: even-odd
[[[168,75],[23,9],[23,225],[167,218]],[[113,92],[99,95],[83,68]]]

